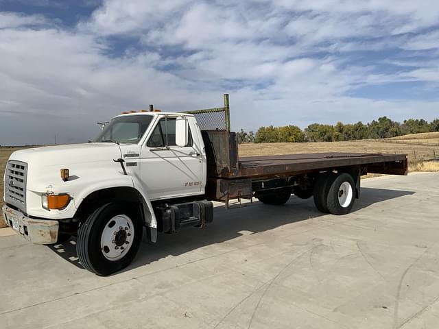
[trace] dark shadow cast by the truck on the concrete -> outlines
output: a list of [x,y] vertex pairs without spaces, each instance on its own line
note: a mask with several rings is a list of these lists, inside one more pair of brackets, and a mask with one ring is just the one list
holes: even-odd
[[[368,208],[379,202],[385,202],[405,195],[413,195],[413,191],[397,191],[382,188],[361,188],[360,199],[355,200],[353,212]],[[319,212],[310,199],[299,199],[292,196],[289,202],[283,206],[270,206],[261,202],[244,204],[243,206],[232,205],[226,210],[224,206],[217,206],[214,210],[213,223],[204,228],[186,228],[176,234],[159,233],[157,243],[149,243],[143,236],[139,252],[132,264],[123,269],[129,271],[160,260],[167,256],[178,256],[192,250],[223,243],[242,236],[243,234],[255,234],[284,226],[289,223],[316,219],[318,217],[333,215]],[[294,228],[293,228],[294,229]],[[245,232],[245,233],[244,233]],[[65,243],[51,245],[51,248],[60,257],[69,263],[82,268],[76,254],[75,238]],[[117,273],[121,273],[117,272]],[[117,275],[117,273],[113,275]]]

